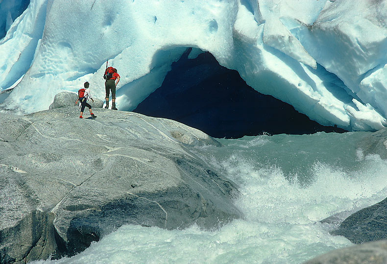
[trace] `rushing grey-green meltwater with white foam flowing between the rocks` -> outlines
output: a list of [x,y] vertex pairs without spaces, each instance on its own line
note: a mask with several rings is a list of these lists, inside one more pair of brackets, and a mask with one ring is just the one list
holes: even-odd
[[214,231],[125,225],[71,258],[33,263],[302,263],[352,243],[329,231],[386,198],[387,162],[363,155],[369,132],[218,140],[194,152],[240,187],[244,214]]

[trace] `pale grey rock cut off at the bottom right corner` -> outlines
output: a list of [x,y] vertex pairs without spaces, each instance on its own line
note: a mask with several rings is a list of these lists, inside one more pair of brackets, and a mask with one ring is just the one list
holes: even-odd
[[304,264],[386,264],[387,240],[339,248]]

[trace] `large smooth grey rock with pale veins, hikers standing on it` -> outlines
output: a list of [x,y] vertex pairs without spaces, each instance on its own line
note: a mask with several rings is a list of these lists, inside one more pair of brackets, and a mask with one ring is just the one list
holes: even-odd
[[93,112],[0,113],[0,263],[71,256],[122,224],[213,229],[242,217],[237,186],[190,151],[218,141],[172,120]]

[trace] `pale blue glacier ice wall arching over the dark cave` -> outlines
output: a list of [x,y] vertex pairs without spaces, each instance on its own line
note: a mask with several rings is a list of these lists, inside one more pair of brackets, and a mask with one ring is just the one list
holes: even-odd
[[107,59],[131,111],[192,48],[322,125],[387,126],[387,0],[25,2],[0,3],[2,112],[48,109],[85,81],[103,99]]

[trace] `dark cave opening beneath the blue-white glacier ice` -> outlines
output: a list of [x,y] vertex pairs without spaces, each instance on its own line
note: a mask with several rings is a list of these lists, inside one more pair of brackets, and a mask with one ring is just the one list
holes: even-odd
[[161,87],[133,112],[176,120],[214,138],[346,132],[320,125],[290,104],[258,93],[237,71],[220,66],[210,52],[189,59],[190,51],[172,63]]

